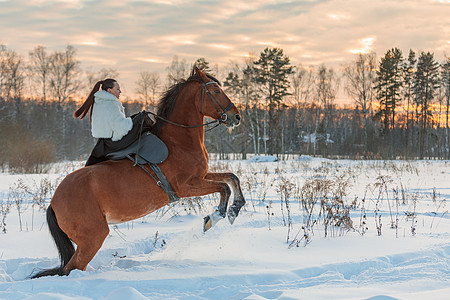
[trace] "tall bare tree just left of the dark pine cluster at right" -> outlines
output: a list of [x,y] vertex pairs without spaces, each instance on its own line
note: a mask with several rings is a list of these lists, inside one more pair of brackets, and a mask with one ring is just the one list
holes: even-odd
[[355,61],[344,66],[345,91],[363,113],[363,142],[368,151],[367,113],[373,101],[376,78],[375,53],[359,54]]

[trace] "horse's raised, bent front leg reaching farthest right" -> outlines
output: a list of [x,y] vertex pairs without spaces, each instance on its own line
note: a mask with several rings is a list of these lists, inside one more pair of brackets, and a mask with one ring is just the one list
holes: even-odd
[[[232,188],[234,199],[233,203],[228,209],[228,220],[230,221],[231,224],[233,224],[234,220],[239,215],[241,208],[245,204],[245,199],[244,195],[242,194],[239,178],[233,173],[208,173],[206,174],[205,178],[212,181],[226,183]],[[228,199],[226,199],[226,201],[228,202]],[[220,211],[221,208],[226,210],[227,202],[222,203],[221,198],[218,210]],[[220,213],[223,213],[223,211],[220,211]]]

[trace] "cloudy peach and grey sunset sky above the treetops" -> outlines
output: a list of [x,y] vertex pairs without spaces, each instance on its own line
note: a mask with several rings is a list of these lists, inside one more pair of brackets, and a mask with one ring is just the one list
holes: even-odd
[[339,68],[393,47],[450,55],[450,0],[0,0],[0,43],[77,49],[83,70],[112,68],[133,94],[142,71],[166,76],[174,56],[220,70],[265,48],[293,65]]

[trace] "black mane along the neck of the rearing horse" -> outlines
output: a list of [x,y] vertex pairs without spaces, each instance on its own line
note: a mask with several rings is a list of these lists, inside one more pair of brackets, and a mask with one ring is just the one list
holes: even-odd
[[[208,73],[205,73],[205,75],[212,81],[216,82],[218,85],[221,85],[220,81],[214,78],[212,75]],[[164,92],[164,94],[158,101],[158,110],[157,110],[158,117],[162,119],[168,119],[170,117],[173,108],[175,107],[177,97],[180,94],[181,90],[186,85],[188,85],[193,81],[202,82],[201,77],[198,76],[195,72],[195,66],[194,68],[192,68],[191,75],[189,76],[188,79],[180,79],[177,83],[173,84],[171,87],[169,87],[169,89],[167,89]],[[153,133],[159,135],[159,133],[161,132],[161,127],[164,126],[165,124],[166,122],[164,120],[156,118],[156,124],[152,130]]]

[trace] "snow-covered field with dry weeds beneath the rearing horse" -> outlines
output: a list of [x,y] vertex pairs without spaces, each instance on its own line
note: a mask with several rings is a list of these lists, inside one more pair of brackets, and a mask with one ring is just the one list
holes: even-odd
[[0,173],[0,299],[449,299],[448,161],[211,161],[241,179],[233,225],[203,233],[217,195],[183,200],[111,226],[86,272],[27,279],[59,264],[33,203],[81,164]]

